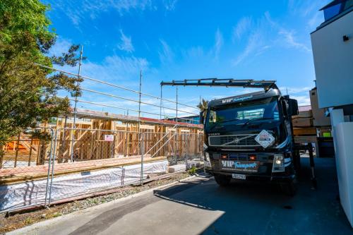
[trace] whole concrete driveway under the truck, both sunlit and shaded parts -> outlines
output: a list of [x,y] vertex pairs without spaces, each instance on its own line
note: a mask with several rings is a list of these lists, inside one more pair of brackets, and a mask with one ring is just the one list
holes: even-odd
[[353,234],[337,200],[334,159],[308,159],[294,198],[277,186],[213,179],[192,181],[34,224],[11,234]]

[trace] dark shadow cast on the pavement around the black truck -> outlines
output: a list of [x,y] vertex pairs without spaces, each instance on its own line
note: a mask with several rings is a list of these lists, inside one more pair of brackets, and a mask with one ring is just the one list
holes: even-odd
[[353,234],[338,199],[335,159],[315,159],[316,191],[311,189],[309,159],[301,160],[294,197],[273,184],[238,181],[222,188],[213,178],[154,194],[174,203],[223,212],[202,234]]

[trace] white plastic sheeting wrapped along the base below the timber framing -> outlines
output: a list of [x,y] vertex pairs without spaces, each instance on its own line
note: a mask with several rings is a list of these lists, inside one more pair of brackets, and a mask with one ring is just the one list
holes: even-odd
[[[147,179],[148,174],[165,173],[167,166],[167,161],[145,163],[143,164],[143,178]],[[106,188],[137,183],[140,181],[140,171],[141,165],[135,164],[66,176],[54,176],[52,202]],[[14,210],[30,205],[43,205],[46,187],[47,179],[0,186],[0,211]]]

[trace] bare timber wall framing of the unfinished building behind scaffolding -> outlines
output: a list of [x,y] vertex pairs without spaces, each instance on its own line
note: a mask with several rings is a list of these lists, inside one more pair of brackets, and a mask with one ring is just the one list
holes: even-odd
[[[177,128],[175,124],[178,124]],[[189,123],[147,118],[138,122],[134,116],[85,110],[78,115],[76,128],[73,128],[72,117],[60,117],[56,124],[42,126],[42,131],[49,133],[47,128],[51,127],[56,133],[56,141],[53,140],[52,144],[54,146],[56,142],[53,150],[57,163],[71,162],[71,150],[75,162],[138,156],[142,146],[143,152],[152,157],[186,154],[192,157],[203,151],[202,126]],[[106,135],[112,135],[112,141],[107,141]],[[21,133],[14,136],[4,150],[5,154],[0,156],[0,168],[43,165],[49,161],[50,140]]]

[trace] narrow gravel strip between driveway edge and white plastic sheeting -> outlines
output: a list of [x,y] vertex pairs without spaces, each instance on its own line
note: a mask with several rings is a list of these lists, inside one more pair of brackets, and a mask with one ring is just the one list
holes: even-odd
[[187,172],[181,172],[177,174],[172,174],[170,178],[159,179],[156,181],[151,181],[145,183],[143,186],[133,186],[127,187],[126,190],[122,188],[122,191],[116,193],[110,193],[107,195],[100,195],[94,198],[86,198],[83,200],[76,200],[71,203],[64,203],[61,205],[53,205],[49,208],[39,209],[32,212],[23,212],[21,214],[11,215],[6,218],[5,213],[0,214],[0,234],[4,234],[7,231],[12,231],[15,229],[20,229],[22,227],[28,226],[30,224],[35,224],[42,220],[51,219],[54,217],[59,217],[61,215],[66,215],[77,210],[83,210],[94,205],[107,203],[109,201],[124,198],[128,195],[139,193],[141,191],[148,190],[150,188],[155,188],[162,186],[174,181],[179,181],[189,177],[190,174]]

